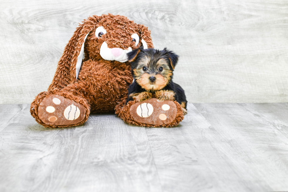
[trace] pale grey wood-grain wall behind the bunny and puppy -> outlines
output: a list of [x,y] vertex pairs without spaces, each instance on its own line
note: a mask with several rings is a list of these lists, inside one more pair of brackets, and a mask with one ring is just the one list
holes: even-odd
[[107,13],[180,55],[175,82],[189,102],[288,101],[287,0],[1,0],[0,104],[31,103],[78,23]]

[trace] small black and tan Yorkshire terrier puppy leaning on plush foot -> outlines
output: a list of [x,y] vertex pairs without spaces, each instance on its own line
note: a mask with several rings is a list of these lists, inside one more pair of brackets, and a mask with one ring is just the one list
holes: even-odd
[[172,81],[178,55],[164,48],[135,49],[129,53],[133,83],[128,89],[129,101],[144,101],[155,97],[159,100],[177,101],[187,114],[187,100],[182,87]]

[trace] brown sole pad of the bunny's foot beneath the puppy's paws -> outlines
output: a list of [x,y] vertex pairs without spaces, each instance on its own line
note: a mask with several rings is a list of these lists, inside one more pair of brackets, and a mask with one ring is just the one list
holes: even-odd
[[175,120],[177,107],[174,101],[151,98],[133,104],[130,107],[130,115],[139,123],[155,126],[168,125]]

